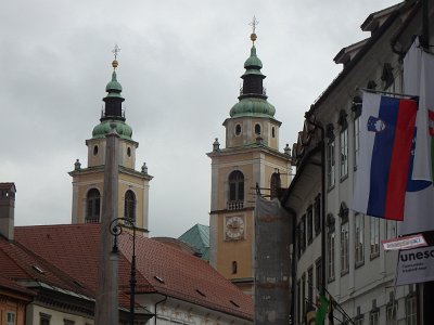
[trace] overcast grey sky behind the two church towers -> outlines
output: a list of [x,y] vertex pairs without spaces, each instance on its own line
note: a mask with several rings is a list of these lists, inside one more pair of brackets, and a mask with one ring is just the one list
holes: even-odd
[[127,122],[146,161],[152,236],[208,224],[215,138],[238,102],[253,15],[280,147],[342,69],[332,58],[366,37],[372,12],[397,0],[46,0],[0,11],[0,182],[17,186],[15,224],[71,222],[76,158],[99,123],[111,50]]

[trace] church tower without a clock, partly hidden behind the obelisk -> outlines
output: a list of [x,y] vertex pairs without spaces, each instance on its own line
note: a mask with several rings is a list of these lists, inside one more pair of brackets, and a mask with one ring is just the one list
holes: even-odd
[[[117,48],[116,48],[117,49]],[[139,143],[133,141],[132,129],[125,122],[125,112],[120,95],[123,90],[117,81],[116,61],[113,61],[112,80],[103,99],[104,110],[100,123],[93,128],[92,138],[86,141],[88,146],[88,167],[82,168],[77,159],[75,168],[69,172],[73,177],[73,223],[100,222],[102,193],[104,188],[105,135],[112,128],[119,134],[119,174],[118,174],[118,217],[131,218],[136,225],[148,233],[149,182],[146,165],[136,170],[136,150]]]

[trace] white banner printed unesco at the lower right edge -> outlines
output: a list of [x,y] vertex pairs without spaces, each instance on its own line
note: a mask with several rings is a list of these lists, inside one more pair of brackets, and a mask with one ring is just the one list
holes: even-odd
[[396,285],[434,281],[434,246],[399,251]]

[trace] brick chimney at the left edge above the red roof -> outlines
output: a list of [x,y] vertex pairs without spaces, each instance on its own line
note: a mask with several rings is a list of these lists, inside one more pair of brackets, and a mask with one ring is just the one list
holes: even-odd
[[13,240],[15,212],[14,183],[0,183],[0,234]]

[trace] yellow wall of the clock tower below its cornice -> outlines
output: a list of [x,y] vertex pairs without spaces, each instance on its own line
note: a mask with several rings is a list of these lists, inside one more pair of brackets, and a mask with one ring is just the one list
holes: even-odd
[[[213,157],[213,168],[217,168],[217,200],[216,210],[212,211],[210,218],[216,222],[215,240],[215,268],[226,278],[251,278],[253,277],[254,263],[254,202],[255,186],[258,182],[260,187],[270,187],[272,173],[279,171],[281,174],[281,186],[288,187],[290,182],[290,160],[279,154],[257,148],[233,150],[231,154],[220,154]],[[241,210],[227,210],[229,195],[229,174],[240,170],[244,174],[244,208]],[[261,190],[269,195],[269,190]],[[226,218],[241,216],[244,219],[244,237],[238,240],[226,238]],[[232,262],[238,264],[237,274],[232,273]]]

